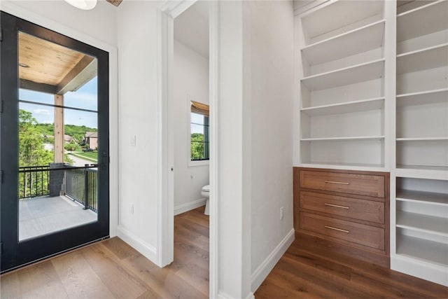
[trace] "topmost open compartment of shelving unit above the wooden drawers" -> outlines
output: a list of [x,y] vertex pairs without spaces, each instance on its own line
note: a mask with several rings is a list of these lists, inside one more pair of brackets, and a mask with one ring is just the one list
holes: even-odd
[[[337,32],[338,29],[345,32],[354,29],[350,27],[356,26],[364,20],[370,20],[375,15],[378,15],[379,20],[381,20],[383,9],[384,3],[382,1],[365,1],[364,3],[362,1],[335,1],[323,4],[323,7],[316,11],[305,13],[302,17],[302,26],[312,41],[317,36]],[[322,22],[322,20],[325,20],[325,22]],[[337,32],[332,35],[341,33]]]

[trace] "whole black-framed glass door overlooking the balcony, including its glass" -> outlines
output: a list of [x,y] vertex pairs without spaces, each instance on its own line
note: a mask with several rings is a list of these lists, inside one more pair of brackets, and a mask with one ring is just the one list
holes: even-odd
[[109,53],[1,12],[1,272],[109,237]]

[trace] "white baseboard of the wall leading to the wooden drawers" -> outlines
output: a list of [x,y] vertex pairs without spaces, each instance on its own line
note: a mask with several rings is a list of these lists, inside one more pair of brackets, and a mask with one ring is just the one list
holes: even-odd
[[293,228],[290,232],[288,232],[288,235],[281,240],[269,256],[263,260],[261,265],[252,273],[251,287],[253,293],[257,291],[257,288],[260,287],[267,275],[272,271],[272,269],[274,269],[274,266],[279,262],[281,256],[283,256],[290,244],[293,243],[294,237],[295,234]]

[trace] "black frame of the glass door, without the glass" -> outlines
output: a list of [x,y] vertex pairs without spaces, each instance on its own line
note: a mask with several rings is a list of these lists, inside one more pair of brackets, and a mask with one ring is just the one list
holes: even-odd
[[[98,221],[25,239],[18,235],[18,32],[25,32],[98,60]],[[0,237],[1,272],[109,237],[109,53],[1,12]]]

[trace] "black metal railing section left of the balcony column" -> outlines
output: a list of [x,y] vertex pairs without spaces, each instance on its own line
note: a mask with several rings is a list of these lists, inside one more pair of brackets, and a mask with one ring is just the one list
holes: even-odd
[[19,167],[19,198],[49,195],[50,167]]

